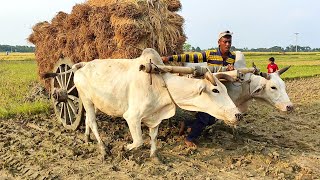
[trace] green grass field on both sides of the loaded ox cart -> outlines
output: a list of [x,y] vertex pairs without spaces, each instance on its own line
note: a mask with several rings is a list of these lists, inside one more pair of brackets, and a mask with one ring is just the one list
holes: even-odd
[[[269,57],[279,68],[292,65],[282,78],[320,75],[320,52],[312,53],[244,53],[247,65],[254,62],[266,72]],[[46,99],[26,100],[32,85],[38,82],[34,53],[0,53],[0,118],[49,112],[51,102]]]

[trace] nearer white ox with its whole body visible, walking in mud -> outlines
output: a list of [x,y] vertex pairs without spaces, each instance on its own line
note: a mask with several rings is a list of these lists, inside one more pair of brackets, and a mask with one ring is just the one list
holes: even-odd
[[149,61],[163,65],[159,54],[148,48],[136,59],[98,59],[72,67],[74,83],[86,110],[86,139],[91,129],[103,156],[106,152],[98,133],[95,108],[127,121],[133,139],[127,145],[128,150],[143,144],[141,123],[146,124],[151,137],[150,156],[156,151],[159,124],[174,116],[175,104],[189,111],[206,112],[229,125],[238,123],[241,118],[238,108],[226,87],[211,73],[205,79],[191,79],[139,71],[139,66]]

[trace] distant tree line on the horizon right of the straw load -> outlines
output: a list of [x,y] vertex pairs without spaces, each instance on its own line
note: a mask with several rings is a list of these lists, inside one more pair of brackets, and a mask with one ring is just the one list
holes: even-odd
[[[215,48],[209,48],[209,49],[217,49]],[[206,49],[201,49],[200,47],[193,47],[191,44],[185,43],[183,45],[183,50],[185,52],[201,52]],[[273,46],[271,48],[236,48],[234,46],[231,47],[232,51],[242,51],[242,52],[319,52],[320,48],[310,48],[309,46],[294,46],[289,45],[285,48],[280,46]]]

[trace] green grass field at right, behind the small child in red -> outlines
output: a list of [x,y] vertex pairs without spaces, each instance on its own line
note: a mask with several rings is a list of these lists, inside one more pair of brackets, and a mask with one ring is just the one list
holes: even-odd
[[272,56],[279,68],[291,65],[292,67],[281,77],[299,78],[310,77],[320,74],[320,52],[301,53],[267,53],[248,52],[244,53],[247,66],[254,62],[262,72],[267,72],[268,59]]

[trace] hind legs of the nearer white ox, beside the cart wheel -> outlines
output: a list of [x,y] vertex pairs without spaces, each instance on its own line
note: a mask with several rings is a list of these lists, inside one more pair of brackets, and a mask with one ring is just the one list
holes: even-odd
[[[98,141],[98,146],[100,148],[101,155],[102,155],[102,157],[105,157],[106,156],[106,149],[105,149],[104,143],[101,141],[101,138],[98,133],[98,125],[97,125],[97,121],[96,121],[96,113],[95,113],[94,106],[91,102],[90,103],[83,103],[83,105],[86,110],[86,133],[90,132],[90,129],[88,128],[88,125],[89,125],[94,136],[96,137],[96,139]],[[87,136],[87,134],[86,134],[86,136]]]

